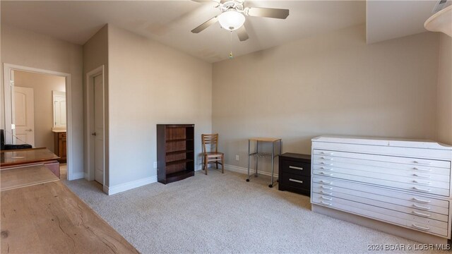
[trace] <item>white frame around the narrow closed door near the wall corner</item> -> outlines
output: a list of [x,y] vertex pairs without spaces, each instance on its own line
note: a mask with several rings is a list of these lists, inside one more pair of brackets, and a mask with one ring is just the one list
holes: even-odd
[[97,68],[95,68],[93,71],[90,71],[88,73],[86,73],[86,144],[87,145],[87,153],[88,155],[86,156],[86,161],[87,161],[87,166],[88,166],[88,181],[93,181],[94,180],[94,174],[95,174],[95,165],[94,165],[94,158],[93,158],[93,152],[94,152],[94,139],[91,136],[91,131],[93,131],[93,125],[94,125],[94,103],[93,99],[94,99],[94,95],[93,95],[93,85],[94,85],[94,77],[97,75],[102,75],[102,93],[103,93],[103,99],[104,99],[104,103],[102,104],[102,118],[104,121],[104,130],[103,132],[103,151],[104,151],[104,167],[103,167],[103,184],[102,186],[106,186],[105,184],[105,67],[104,65],[99,66]]

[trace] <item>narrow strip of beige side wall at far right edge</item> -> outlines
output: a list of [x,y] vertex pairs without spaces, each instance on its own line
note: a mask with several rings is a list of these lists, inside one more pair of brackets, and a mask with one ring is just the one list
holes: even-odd
[[438,69],[438,141],[452,145],[452,39],[441,33]]

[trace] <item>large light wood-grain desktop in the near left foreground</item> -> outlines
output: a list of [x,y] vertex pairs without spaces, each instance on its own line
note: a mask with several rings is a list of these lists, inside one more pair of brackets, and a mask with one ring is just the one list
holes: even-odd
[[0,228],[1,253],[138,253],[61,181],[1,191]]

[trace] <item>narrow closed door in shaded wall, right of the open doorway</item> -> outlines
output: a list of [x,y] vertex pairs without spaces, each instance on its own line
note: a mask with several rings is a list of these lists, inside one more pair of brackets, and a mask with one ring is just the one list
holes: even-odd
[[94,179],[104,184],[104,80],[101,75],[94,77]]

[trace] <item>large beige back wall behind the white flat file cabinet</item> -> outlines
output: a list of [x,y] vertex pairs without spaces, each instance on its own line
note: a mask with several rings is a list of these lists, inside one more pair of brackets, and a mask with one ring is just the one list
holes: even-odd
[[439,35],[366,44],[364,29],[214,63],[213,132],[226,163],[247,167],[256,136],[304,154],[318,135],[435,139]]

